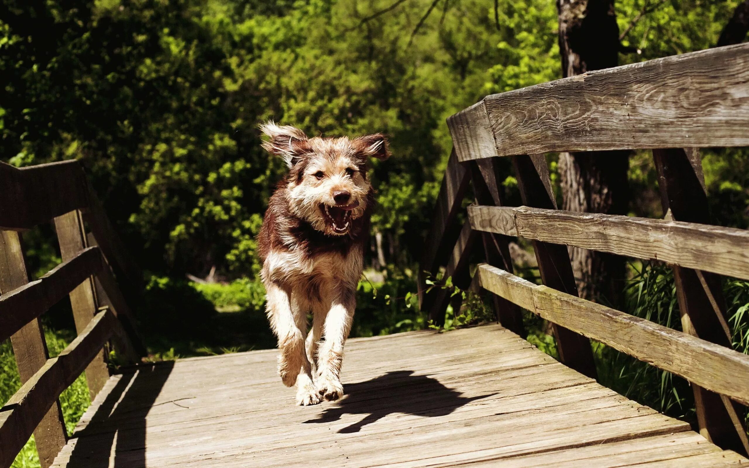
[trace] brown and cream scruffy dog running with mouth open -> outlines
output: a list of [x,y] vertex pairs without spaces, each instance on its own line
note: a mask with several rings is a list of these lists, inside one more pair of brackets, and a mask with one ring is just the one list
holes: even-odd
[[[281,351],[279,375],[286,386],[297,383],[297,404],[333,401],[343,395],[343,344],[374,206],[367,160],[390,152],[380,134],[307,138],[273,122],[261,130],[270,137],[263,148],[289,167],[258,235],[267,314]],[[309,312],[314,319],[305,341]]]

